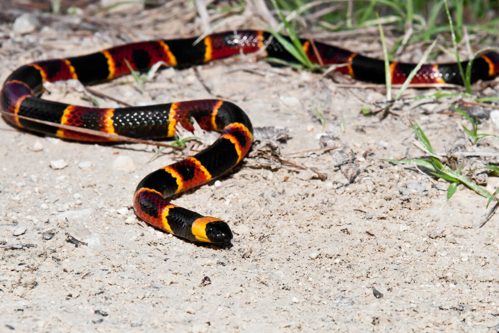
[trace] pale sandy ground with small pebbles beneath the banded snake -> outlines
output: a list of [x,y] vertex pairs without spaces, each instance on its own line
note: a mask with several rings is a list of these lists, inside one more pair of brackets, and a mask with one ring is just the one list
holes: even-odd
[[[95,29],[47,16],[41,31],[23,36],[2,23],[0,80],[33,59],[199,32],[182,23],[192,9],[155,10],[149,14],[168,19],[140,33],[126,25],[130,15],[113,24],[102,18]],[[380,54],[378,38],[370,38],[369,46],[365,36],[340,42]],[[478,228],[486,199],[460,186],[446,202],[446,182],[382,160],[424,154],[412,143],[408,118],[437,151],[453,147],[466,124],[449,114],[455,101],[411,102],[385,117],[364,116],[363,107],[384,100],[383,86],[343,87],[254,60],[218,61],[198,67],[199,75],[163,70],[143,94],[133,83],[118,84],[130,77],[94,87],[133,105],[220,95],[246,110],[254,126],[289,129],[278,154],[307,170],[254,157],[260,144],[237,172],[175,199],[228,221],[235,234],[228,248],[190,243],[135,217],[137,183],[180,153],[165,150],[148,163],[155,147],[68,142],[0,122],[0,331],[496,332],[498,220]],[[488,84],[474,88],[497,96],[497,81]],[[48,90],[46,98],[91,105],[72,84]],[[407,96],[432,92],[410,89]],[[324,129],[316,108],[324,110]],[[497,133],[488,119],[480,131]],[[340,148],[318,150],[321,133]],[[498,150],[494,139],[479,144]],[[339,167],[345,158],[351,163]],[[66,167],[50,167],[60,159]],[[130,170],[118,170],[120,161]],[[488,179],[491,191],[498,185]]]

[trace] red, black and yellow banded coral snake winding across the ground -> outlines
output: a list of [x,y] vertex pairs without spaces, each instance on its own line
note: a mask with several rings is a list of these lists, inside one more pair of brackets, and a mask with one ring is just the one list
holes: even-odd
[[[142,179],[134,194],[133,207],[136,214],[149,224],[188,240],[211,243],[230,241],[233,235],[227,223],[172,205],[168,197],[228,172],[243,159],[250,149],[253,129],[250,119],[241,108],[231,102],[217,99],[138,107],[95,108],[38,97],[43,90],[43,82],[46,81],[78,79],[83,84],[89,84],[130,74],[125,60],[134,70],[139,71],[147,70],[158,61],[164,61],[172,67],[185,68],[240,52],[254,52],[264,47],[268,56],[293,61],[291,54],[264,31],[215,33],[195,44],[196,39],[137,42],[87,55],[23,65],[6,78],[1,88],[1,108],[9,113],[4,114],[4,118],[17,127],[84,141],[112,139],[60,129],[57,125],[48,126],[16,115],[134,138],[172,137],[177,124],[193,130],[191,118],[196,119],[204,130],[222,132],[217,141],[207,149],[156,170]],[[312,45],[304,39],[302,44],[314,63],[345,64],[336,70],[362,80],[380,83],[385,81],[382,60],[321,42],[314,42]],[[462,63],[464,68],[467,63]],[[404,82],[413,68],[415,64],[392,62],[392,82]],[[492,78],[498,72],[499,53],[486,51],[474,59],[471,80],[474,82]],[[445,63],[423,65],[411,83],[463,84],[463,81],[458,64]]]

